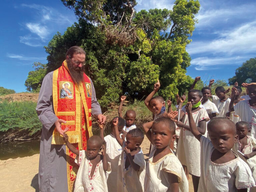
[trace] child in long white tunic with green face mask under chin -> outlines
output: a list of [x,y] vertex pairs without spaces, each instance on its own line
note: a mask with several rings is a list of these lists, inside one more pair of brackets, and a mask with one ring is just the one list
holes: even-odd
[[[196,122],[197,129],[202,135],[206,134],[206,122],[209,116],[204,108],[201,108],[202,92],[197,89],[191,89],[188,92],[188,101],[193,105],[192,114]],[[182,106],[182,100],[179,108]],[[200,142],[198,142],[190,131],[188,122],[188,114],[180,117],[182,121],[176,121],[178,127],[181,127],[180,138],[177,146],[176,155],[182,165],[188,167],[189,173],[192,175],[194,191],[197,191],[200,179]]]

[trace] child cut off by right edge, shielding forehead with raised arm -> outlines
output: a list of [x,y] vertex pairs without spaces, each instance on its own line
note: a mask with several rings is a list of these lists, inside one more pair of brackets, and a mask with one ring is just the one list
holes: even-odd
[[243,100],[234,106],[235,92],[231,94],[230,111],[235,111],[241,121],[250,125],[248,135],[256,138],[256,83],[243,83],[243,87],[248,89],[250,100]]

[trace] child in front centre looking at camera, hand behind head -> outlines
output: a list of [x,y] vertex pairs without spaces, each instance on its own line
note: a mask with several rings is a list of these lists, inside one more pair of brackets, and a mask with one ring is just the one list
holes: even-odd
[[146,169],[144,191],[188,192],[188,180],[178,158],[170,149],[175,141],[175,123],[160,117],[143,124],[147,138],[153,144]]

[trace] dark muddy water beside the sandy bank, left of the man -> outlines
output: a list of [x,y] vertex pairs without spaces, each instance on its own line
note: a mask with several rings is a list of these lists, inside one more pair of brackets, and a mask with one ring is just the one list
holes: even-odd
[[0,160],[32,156],[34,154],[38,154],[39,149],[40,140],[2,144],[0,145]]

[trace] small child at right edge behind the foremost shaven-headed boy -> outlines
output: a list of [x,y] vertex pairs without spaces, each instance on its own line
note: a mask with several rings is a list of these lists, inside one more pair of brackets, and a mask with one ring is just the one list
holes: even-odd
[[[238,156],[243,159],[252,171],[252,176],[256,182],[256,139],[247,135],[249,124],[245,121],[239,121],[236,123],[236,133],[238,134],[238,143],[233,147],[233,151],[237,153]],[[250,192],[255,192],[256,187],[250,188]]]

